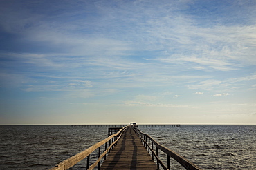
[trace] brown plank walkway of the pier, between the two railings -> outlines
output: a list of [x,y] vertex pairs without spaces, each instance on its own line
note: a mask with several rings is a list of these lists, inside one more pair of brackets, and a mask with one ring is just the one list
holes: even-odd
[[101,170],[109,169],[157,169],[156,163],[140,142],[132,127],[122,134],[116,147],[104,160]]

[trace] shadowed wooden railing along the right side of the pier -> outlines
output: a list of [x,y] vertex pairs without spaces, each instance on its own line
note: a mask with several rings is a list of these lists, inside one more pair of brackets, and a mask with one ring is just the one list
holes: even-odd
[[[157,169],[159,169],[160,165],[163,169],[170,169],[170,157],[172,157],[187,170],[201,170],[195,164],[183,158],[183,156],[180,156],[178,153],[175,153],[174,151],[168,149],[167,147],[160,145],[151,136],[144,134],[138,128],[134,127],[134,131],[139,136],[140,140],[143,142],[143,145],[148,150],[148,152],[152,153],[152,160],[156,158]],[[167,165],[160,160],[159,150],[163,151],[163,153],[167,155]]]

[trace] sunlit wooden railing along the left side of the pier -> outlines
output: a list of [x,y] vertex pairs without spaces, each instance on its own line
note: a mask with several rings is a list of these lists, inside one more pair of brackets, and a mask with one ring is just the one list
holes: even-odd
[[[128,125],[126,127],[122,127],[122,129],[120,129],[120,131],[118,131],[118,133],[113,134],[113,135],[109,136],[108,138],[105,138],[104,140],[96,143],[95,145],[89,147],[88,149],[86,149],[80,153],[77,153],[75,156],[72,156],[71,158],[68,158],[68,159],[60,162],[59,164],[56,164],[55,167],[53,167],[49,170],[66,170],[68,168],[73,167],[75,164],[77,164],[81,160],[84,160],[85,158],[87,158],[86,169],[89,169],[89,170],[94,169],[97,165],[98,165],[98,169],[100,169],[100,160],[102,160],[103,157],[106,159],[107,153],[109,153],[109,151],[113,148],[113,146],[117,144],[120,136],[122,136],[122,133],[125,131],[125,129],[127,129],[127,127],[130,127],[130,125]],[[108,142],[109,142],[109,147],[107,147]],[[101,149],[102,145],[104,145],[104,152],[102,154],[100,154],[101,153],[100,149]],[[96,160],[90,166],[90,155],[96,149],[98,149],[98,160]]]

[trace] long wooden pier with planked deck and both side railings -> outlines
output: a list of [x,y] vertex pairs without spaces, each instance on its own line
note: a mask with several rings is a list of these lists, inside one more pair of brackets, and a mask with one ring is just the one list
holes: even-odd
[[[144,134],[136,123],[122,128],[116,134],[78,153],[50,170],[64,170],[73,167],[77,162],[86,160],[86,169],[170,169],[170,158],[179,162],[184,169],[200,170],[195,164],[183,158],[178,153],[158,144],[151,136]],[[111,127],[110,127],[111,129]],[[166,164],[160,158],[159,152],[165,154]],[[91,154],[98,153],[98,160],[91,162]]]

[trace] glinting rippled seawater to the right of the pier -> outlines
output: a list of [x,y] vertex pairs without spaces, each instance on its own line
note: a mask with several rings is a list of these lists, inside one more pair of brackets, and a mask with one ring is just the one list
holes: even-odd
[[[140,130],[202,169],[256,169],[256,125],[182,125]],[[172,167],[182,169],[176,164]]]

